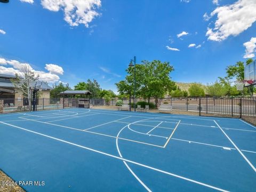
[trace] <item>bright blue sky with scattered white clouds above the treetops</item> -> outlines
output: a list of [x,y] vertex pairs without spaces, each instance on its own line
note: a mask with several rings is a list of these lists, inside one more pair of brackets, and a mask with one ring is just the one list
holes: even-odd
[[49,83],[94,78],[116,91],[135,55],[169,61],[174,81],[211,83],[255,59],[255,10],[255,0],[11,0],[0,4],[0,73],[29,65]]

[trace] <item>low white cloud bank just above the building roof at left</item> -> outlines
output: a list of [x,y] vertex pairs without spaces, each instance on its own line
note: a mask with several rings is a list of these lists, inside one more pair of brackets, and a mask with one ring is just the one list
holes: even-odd
[[[10,66],[10,67],[6,67],[6,66]],[[45,68],[47,68],[49,72],[45,72],[45,71],[39,71],[39,70],[33,69],[29,63],[21,63],[17,60],[6,60],[4,58],[0,58],[0,74],[6,74],[6,75],[20,74],[20,71],[24,67],[28,67],[36,75],[39,75],[39,80],[46,81],[49,83],[59,81],[60,77],[54,73],[63,74],[63,69],[58,65],[50,64],[50,66],[49,65],[46,66]]]

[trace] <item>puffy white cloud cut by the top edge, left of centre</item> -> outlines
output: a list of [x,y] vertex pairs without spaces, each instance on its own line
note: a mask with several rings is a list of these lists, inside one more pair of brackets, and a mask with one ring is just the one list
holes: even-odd
[[41,4],[50,11],[63,10],[64,20],[70,26],[83,24],[89,27],[89,23],[100,15],[96,10],[101,6],[101,0],[41,0]]

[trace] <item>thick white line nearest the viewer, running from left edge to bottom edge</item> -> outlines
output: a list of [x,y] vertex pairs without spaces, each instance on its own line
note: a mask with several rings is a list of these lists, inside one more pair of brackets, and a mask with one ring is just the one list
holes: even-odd
[[24,131],[28,131],[28,132],[31,132],[31,133],[35,133],[35,134],[38,134],[38,135],[42,135],[43,137],[46,137],[46,138],[50,138],[50,139],[53,139],[53,140],[57,140],[57,141],[60,141],[60,142],[64,142],[64,143],[67,143],[67,144],[69,144],[69,145],[73,145],[73,146],[76,146],[76,147],[80,147],[80,148],[83,148],[83,149],[87,149],[87,150],[93,151],[93,152],[95,152],[95,153],[99,153],[99,154],[102,154],[102,155],[106,155],[106,156],[109,156],[109,157],[113,157],[113,158],[119,159],[119,160],[121,160],[121,161],[125,161],[125,162],[129,162],[129,163],[132,163],[132,164],[135,164],[135,165],[139,165],[139,166],[142,166],[142,167],[146,167],[146,168],[148,168],[148,169],[150,169],[150,170],[154,170],[154,171],[157,171],[157,172],[165,173],[165,174],[171,175],[171,176],[176,177],[176,178],[180,178],[180,179],[183,179],[183,180],[186,180],[186,181],[190,181],[190,182],[193,182],[193,183],[197,183],[198,185],[202,185],[202,186],[209,187],[209,188],[212,188],[212,189],[215,189],[215,190],[219,190],[219,191],[223,191],[223,192],[228,192],[228,191],[225,190],[225,189],[221,189],[221,188],[218,188],[218,187],[214,187],[214,186],[208,185],[208,184],[203,183],[203,182],[199,182],[199,181],[196,181],[196,180],[193,180],[193,179],[189,179],[189,178],[186,178],[186,177],[182,177],[182,176],[177,175],[177,174],[174,174],[174,173],[170,173],[170,172],[167,172],[167,171],[163,171],[163,170],[160,170],[160,169],[157,169],[157,168],[154,168],[154,167],[145,165],[145,164],[137,163],[137,162],[131,161],[131,160],[129,160],[129,159],[125,159],[125,158],[122,158],[122,157],[118,157],[118,156],[115,156],[115,155],[111,155],[111,154],[108,154],[108,153],[105,153],[105,152],[102,152],[102,151],[99,151],[99,150],[95,150],[95,149],[92,149],[92,148],[89,148],[89,147],[85,147],[85,146],[82,146],[82,145],[77,145],[76,143],[73,143],[73,142],[65,141],[65,140],[62,140],[62,139],[58,139],[58,138],[55,138],[55,137],[51,137],[51,136],[46,135],[46,134],[42,134],[42,133],[38,133],[38,132],[35,132],[35,131],[27,130],[27,129],[24,129],[24,128],[22,128],[22,127],[15,126],[15,125],[12,125],[12,124],[4,123],[4,122],[0,122],[0,123],[3,123],[3,124],[5,124],[5,125],[9,125],[9,126],[12,126],[12,127],[15,127],[15,128],[21,129],[21,130],[24,130]]

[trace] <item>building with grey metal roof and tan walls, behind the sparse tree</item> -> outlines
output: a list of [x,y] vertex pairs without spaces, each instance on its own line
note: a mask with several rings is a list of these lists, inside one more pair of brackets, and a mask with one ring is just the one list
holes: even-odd
[[[26,99],[23,97],[22,92],[15,89],[15,86],[12,84],[11,78],[14,77],[15,76],[13,75],[0,74],[0,99],[3,99],[4,103],[13,103],[14,106],[19,106],[23,104],[20,102],[26,102]],[[50,100],[50,91],[52,90],[52,87],[42,81],[34,82],[32,83],[32,86],[34,87],[35,84],[42,89],[38,94],[39,99],[44,98]]]

